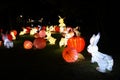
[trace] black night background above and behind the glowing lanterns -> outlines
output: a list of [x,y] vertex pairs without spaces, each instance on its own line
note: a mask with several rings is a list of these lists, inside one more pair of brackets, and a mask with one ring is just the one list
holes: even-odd
[[[81,0],[3,1],[0,3],[0,28],[19,29],[16,18],[44,18],[43,24],[59,24],[58,15],[65,17],[68,26],[80,26],[82,36],[89,42],[92,34],[101,32],[99,49],[119,55],[118,2]],[[113,54],[114,53],[114,54]]]

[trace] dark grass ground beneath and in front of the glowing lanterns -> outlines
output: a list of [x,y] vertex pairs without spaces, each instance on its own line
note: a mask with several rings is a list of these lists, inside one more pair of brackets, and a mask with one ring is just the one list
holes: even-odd
[[25,39],[33,40],[28,35],[19,36],[14,41],[14,47],[7,49],[0,47],[0,78],[1,80],[44,80],[44,79],[61,79],[61,80],[119,80],[120,59],[119,56],[113,56],[113,71],[100,73],[95,70],[97,64],[90,63],[91,55],[87,53],[86,48],[81,54],[85,60],[67,63],[62,57],[62,50],[58,42],[61,37],[57,37],[56,45],[47,46],[44,49],[37,50],[32,48],[26,50],[23,48]]

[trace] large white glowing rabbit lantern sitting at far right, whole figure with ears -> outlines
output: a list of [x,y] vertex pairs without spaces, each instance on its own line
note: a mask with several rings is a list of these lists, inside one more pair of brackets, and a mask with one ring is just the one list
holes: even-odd
[[97,62],[98,67],[96,70],[102,73],[112,71],[113,58],[110,55],[99,52],[97,43],[100,39],[100,33],[97,35],[93,34],[90,38],[90,44],[87,47],[87,51],[92,55],[91,63]]

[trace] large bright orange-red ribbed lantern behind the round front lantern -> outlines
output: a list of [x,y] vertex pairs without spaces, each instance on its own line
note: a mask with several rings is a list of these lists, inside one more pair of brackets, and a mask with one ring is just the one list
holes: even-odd
[[80,36],[71,37],[67,41],[67,47],[73,47],[77,52],[81,52],[85,47],[85,40]]

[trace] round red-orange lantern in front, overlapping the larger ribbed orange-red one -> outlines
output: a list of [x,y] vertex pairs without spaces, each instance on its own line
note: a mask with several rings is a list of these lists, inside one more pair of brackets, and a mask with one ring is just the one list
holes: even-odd
[[78,60],[78,52],[75,48],[66,47],[62,52],[62,57],[66,62],[76,62]]

